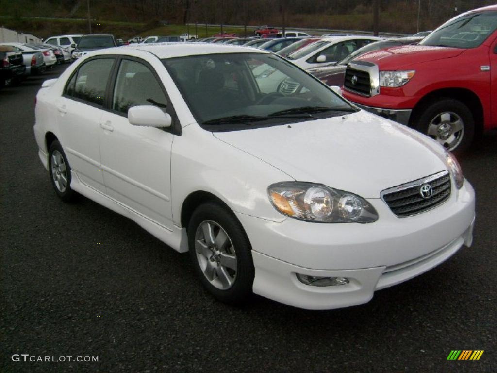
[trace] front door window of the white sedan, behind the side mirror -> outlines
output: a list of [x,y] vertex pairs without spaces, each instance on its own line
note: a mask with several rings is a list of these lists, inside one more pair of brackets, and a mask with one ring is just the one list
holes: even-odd
[[132,106],[156,105],[166,108],[167,99],[152,71],[136,61],[122,60],[117,73],[112,109],[124,114]]

